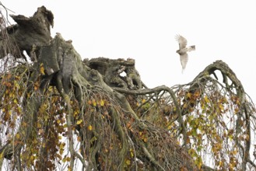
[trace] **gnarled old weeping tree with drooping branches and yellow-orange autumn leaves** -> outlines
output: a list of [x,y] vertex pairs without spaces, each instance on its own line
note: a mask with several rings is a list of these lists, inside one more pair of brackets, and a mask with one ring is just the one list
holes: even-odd
[[31,17],[11,16],[12,26],[7,12],[0,18],[2,169],[256,169],[254,104],[223,61],[186,85],[149,89],[135,60],[82,61],[72,41],[51,37],[54,15],[44,6]]

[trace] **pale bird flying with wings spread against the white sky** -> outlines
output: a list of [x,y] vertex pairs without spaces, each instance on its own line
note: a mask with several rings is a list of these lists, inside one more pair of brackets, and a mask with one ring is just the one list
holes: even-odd
[[186,68],[188,63],[188,51],[195,51],[195,45],[187,47],[187,40],[182,37],[181,35],[176,35],[175,39],[179,43],[180,49],[176,51],[177,54],[180,54],[181,58],[181,66],[182,66],[182,73]]

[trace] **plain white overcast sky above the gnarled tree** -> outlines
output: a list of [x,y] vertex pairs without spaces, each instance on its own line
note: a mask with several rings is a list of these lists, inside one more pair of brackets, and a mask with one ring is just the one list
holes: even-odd
[[[72,40],[82,58],[134,58],[150,88],[191,82],[207,65],[223,60],[256,101],[255,0],[0,2],[24,16],[44,5],[54,13],[52,37],[58,32]],[[183,74],[176,34],[196,47]]]

